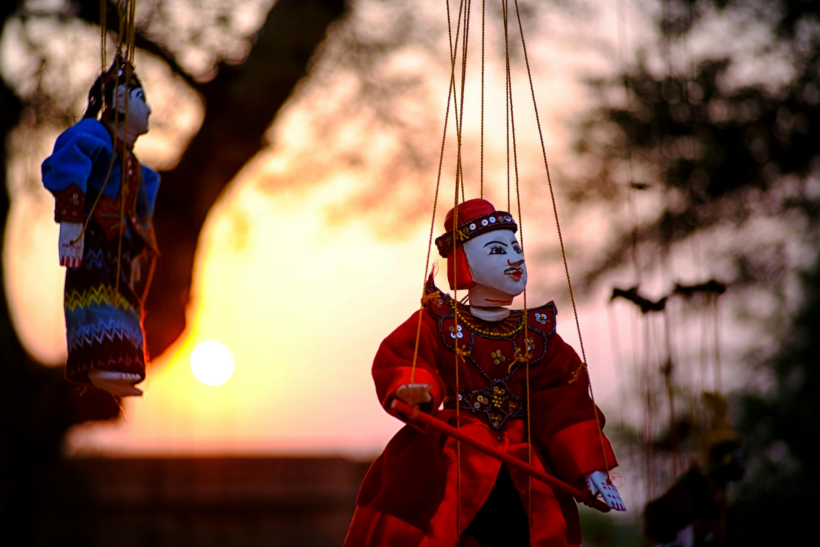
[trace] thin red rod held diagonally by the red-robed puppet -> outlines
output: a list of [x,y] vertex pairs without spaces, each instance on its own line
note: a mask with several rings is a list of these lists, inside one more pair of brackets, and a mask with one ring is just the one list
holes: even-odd
[[399,413],[402,413],[404,416],[408,417],[408,419],[416,420],[417,422],[421,422],[427,426],[440,429],[454,439],[458,439],[462,441],[462,443],[469,444],[472,448],[479,450],[488,456],[499,459],[509,466],[516,467],[534,479],[538,479],[544,484],[549,485],[549,487],[553,490],[561,490],[564,494],[572,495],[573,498],[580,499],[585,504],[590,505],[599,511],[603,511],[604,513],[608,513],[609,511],[609,506],[604,504],[604,502],[600,499],[593,498],[586,492],[578,490],[575,486],[569,485],[555,476],[548,475],[539,469],[532,467],[529,463],[522,462],[522,460],[515,458],[514,456],[481,443],[480,440],[476,440],[470,435],[462,433],[462,431],[459,431],[448,423],[442,422],[437,417],[430,416],[430,414],[427,413],[417,412],[417,408],[411,407],[408,403],[405,403],[402,400],[393,399],[393,402],[390,403],[390,408],[398,410]]

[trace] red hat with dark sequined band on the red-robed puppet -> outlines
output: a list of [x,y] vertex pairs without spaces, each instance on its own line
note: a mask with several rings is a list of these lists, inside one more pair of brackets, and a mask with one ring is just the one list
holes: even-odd
[[[458,228],[453,232],[455,217],[456,209],[453,207],[447,213],[447,217],[444,217],[444,230],[447,231],[435,239],[435,246],[439,248],[439,254],[447,258],[447,279],[450,282],[450,289],[470,289],[476,283],[472,280],[470,266],[467,264],[462,244],[490,230],[515,232],[518,230],[518,225],[512,220],[511,214],[506,211],[497,211],[492,203],[481,198],[468,199],[458,204]],[[453,236],[456,239],[455,245],[453,245]],[[454,268],[456,262],[458,262],[458,268]],[[458,287],[454,283],[456,274],[458,274]]]

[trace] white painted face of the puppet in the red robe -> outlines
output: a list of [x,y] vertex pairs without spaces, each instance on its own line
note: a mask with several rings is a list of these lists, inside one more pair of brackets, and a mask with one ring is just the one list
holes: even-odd
[[498,293],[485,297],[488,306],[507,306],[526,287],[526,264],[521,245],[512,230],[491,230],[464,243],[472,280]]

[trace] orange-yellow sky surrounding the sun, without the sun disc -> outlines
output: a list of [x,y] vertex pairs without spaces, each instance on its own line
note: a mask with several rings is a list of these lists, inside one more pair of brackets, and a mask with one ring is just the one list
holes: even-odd
[[[594,25],[612,31],[614,39],[610,13]],[[442,53],[446,56],[446,50]],[[531,55],[548,153],[561,166],[569,161],[567,121],[585,105],[578,77],[590,66],[600,67],[600,59],[590,52],[575,52],[567,43],[536,38],[531,40]],[[150,65],[144,62],[148,68],[141,68],[141,74],[151,74]],[[503,207],[500,68],[488,66],[490,74],[497,74],[488,77],[487,86],[487,185],[490,199]],[[430,85],[446,93],[446,76],[444,71],[432,71]],[[519,84],[516,101],[521,105],[517,127],[523,135],[522,172],[535,174],[540,185],[524,189],[526,244],[540,248],[554,245],[556,237],[529,90],[523,86],[526,73],[517,71],[514,77]],[[195,129],[201,112],[193,99],[182,100],[182,107],[171,111],[164,102],[174,99],[161,75],[157,72],[147,80],[154,82],[148,100],[154,108],[156,129],[140,140],[137,153],[148,165],[162,166],[179,148],[179,135]],[[475,76],[468,79],[467,87],[467,102],[476,105],[480,86]],[[444,97],[439,102],[442,106]],[[194,271],[188,328],[175,346],[154,358],[143,385],[144,396],[125,401],[128,421],[76,427],[69,437],[69,451],[369,457],[399,429],[400,423],[379,407],[370,366],[380,340],[417,309],[429,221],[408,220],[395,237],[374,230],[367,215],[330,221],[329,211],[362,188],[361,180],[344,172],[321,184],[270,191],[277,177],[292,180],[294,173],[298,175],[299,166],[288,162],[289,150],[312,139],[301,121],[318,100],[317,90],[307,89],[285,107],[271,129],[275,144],[233,181],[207,218]],[[477,111],[468,112],[464,130],[473,142],[477,142],[478,120]],[[35,154],[37,162],[48,155],[55,136],[43,136]],[[355,144],[364,137],[353,134],[349,139]],[[57,264],[53,201],[43,189],[26,188],[21,183],[23,171],[23,166],[12,170],[11,178],[20,180],[10,180],[13,203],[3,261],[10,303],[26,348],[44,361],[62,362],[66,354],[64,271]],[[476,197],[475,175],[468,172],[467,198]],[[442,183],[445,205],[439,219],[452,206],[452,180],[452,171],[447,171]],[[431,203],[434,176],[422,177],[417,184]],[[393,200],[391,207],[400,212],[401,193]],[[575,223],[563,219],[572,246],[571,260],[583,252],[585,242],[599,238],[607,214],[611,212],[592,211]],[[435,235],[440,230],[439,220]],[[563,267],[553,258],[549,262],[529,258],[531,304],[558,300],[558,332],[577,348],[572,308],[563,305],[566,294],[544,292],[545,286],[565,286]],[[446,285],[444,276],[438,282]],[[581,304],[581,325],[599,404],[607,409],[616,403],[618,379],[604,306],[606,291],[602,290]],[[203,385],[190,370],[190,353],[203,340],[219,340],[234,354],[235,372],[224,385]],[[623,345],[626,349],[628,343]]]

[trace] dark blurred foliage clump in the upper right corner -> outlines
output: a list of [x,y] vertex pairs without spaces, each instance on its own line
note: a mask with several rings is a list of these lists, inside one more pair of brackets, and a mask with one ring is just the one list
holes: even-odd
[[[668,248],[713,226],[740,229],[762,215],[801,217],[812,226],[803,237],[816,236],[820,226],[820,196],[809,182],[820,171],[816,2],[662,3],[666,18],[658,25],[667,34],[658,44],[661,52],[681,51],[687,31],[722,16],[736,25],[767,25],[773,42],[752,45],[781,48],[777,61],[789,63],[794,74],[783,83],[758,74],[759,82],[735,84],[734,71],[747,61],[731,56],[692,59],[686,69],[658,73],[645,51],[626,73],[590,82],[602,107],[581,126],[577,150],[596,171],[572,198],[623,203],[626,192],[657,192],[664,206],[634,234],[625,230],[590,268],[589,280],[621,266],[633,238],[639,245]],[[772,264],[759,258],[736,258],[738,282],[779,273],[767,272]]]

